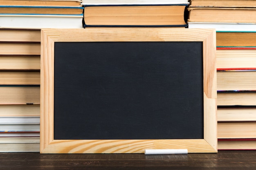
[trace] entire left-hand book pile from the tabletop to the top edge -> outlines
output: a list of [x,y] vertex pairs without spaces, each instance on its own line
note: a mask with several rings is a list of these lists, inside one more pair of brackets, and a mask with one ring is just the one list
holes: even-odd
[[0,152],[39,151],[43,28],[83,29],[81,0],[0,0]]

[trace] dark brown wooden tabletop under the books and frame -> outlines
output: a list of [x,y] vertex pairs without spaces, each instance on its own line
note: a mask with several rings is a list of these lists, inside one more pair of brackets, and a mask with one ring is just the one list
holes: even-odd
[[256,150],[144,154],[0,153],[0,170],[256,170]]

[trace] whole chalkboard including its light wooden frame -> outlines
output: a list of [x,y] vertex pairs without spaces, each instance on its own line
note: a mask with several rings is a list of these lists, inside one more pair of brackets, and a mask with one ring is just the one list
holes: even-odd
[[216,152],[215,32],[117,30],[42,30],[40,152]]

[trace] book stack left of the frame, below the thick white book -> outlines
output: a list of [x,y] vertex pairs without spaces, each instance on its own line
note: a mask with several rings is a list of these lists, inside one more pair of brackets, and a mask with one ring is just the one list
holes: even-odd
[[39,151],[40,30],[0,37],[0,152]]

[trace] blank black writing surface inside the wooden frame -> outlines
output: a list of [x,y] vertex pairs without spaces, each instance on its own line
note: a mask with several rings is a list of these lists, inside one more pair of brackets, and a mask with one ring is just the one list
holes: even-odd
[[203,139],[202,42],[55,42],[54,139]]

